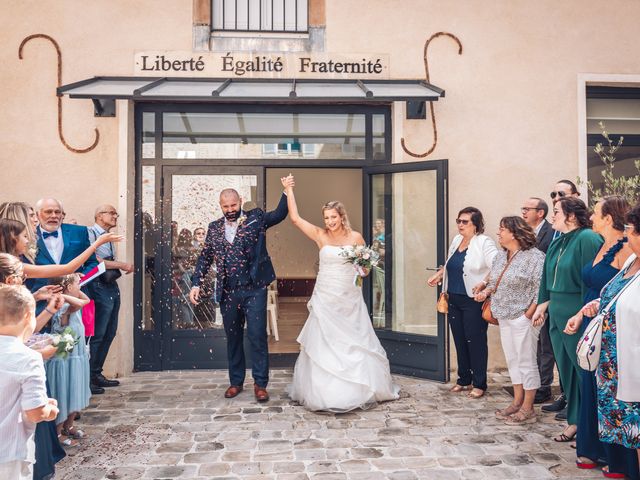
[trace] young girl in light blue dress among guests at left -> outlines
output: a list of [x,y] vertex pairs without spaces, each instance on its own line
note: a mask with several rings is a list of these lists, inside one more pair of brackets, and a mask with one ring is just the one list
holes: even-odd
[[78,343],[66,358],[50,359],[45,369],[51,386],[51,395],[58,401],[60,413],[56,419],[58,438],[65,446],[76,445],[75,440],[84,437],[84,432],[73,426],[76,414],[89,405],[89,355],[84,340],[82,307],[89,303],[80,290],[80,275],[73,273],[51,279],[51,283],[62,287],[65,305],[53,316],[52,333],[62,333],[70,327],[78,337]]

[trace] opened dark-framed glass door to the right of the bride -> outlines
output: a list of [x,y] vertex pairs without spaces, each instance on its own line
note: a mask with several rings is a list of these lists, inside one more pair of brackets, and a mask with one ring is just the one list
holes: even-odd
[[371,167],[371,243],[381,261],[371,274],[373,325],[392,370],[446,380],[445,319],[428,268],[443,263],[446,162]]

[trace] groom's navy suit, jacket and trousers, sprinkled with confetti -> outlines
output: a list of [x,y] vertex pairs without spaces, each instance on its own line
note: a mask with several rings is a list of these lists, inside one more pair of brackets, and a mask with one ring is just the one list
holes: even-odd
[[192,277],[200,286],[213,262],[217,281],[214,297],[220,303],[222,321],[227,334],[227,358],[231,385],[242,386],[246,372],[243,337],[251,344],[252,374],[255,383],[266,388],[269,382],[269,350],[267,346],[267,289],[276,274],[267,252],[267,228],[287,217],[287,197],[282,195],[275,210],[255,208],[244,215],[233,243],[225,238],[225,218],[209,224],[204,248]]

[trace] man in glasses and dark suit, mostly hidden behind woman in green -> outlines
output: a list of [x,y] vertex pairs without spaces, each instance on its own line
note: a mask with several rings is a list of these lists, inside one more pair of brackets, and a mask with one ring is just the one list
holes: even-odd
[[[538,197],[529,197],[520,209],[522,218],[536,234],[536,246],[547,253],[553,239],[553,228],[547,222],[549,205]],[[551,399],[551,384],[553,383],[553,365],[555,358],[549,337],[549,322],[544,322],[538,337],[538,371],[540,372],[540,388],[536,392],[535,403],[544,403]]]

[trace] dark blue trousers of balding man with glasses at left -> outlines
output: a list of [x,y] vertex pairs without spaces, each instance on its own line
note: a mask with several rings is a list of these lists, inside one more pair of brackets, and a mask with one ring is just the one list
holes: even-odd
[[117,283],[105,283],[99,279],[96,279],[91,287],[91,298],[96,304],[95,331],[89,342],[91,377],[93,378],[102,373],[111,342],[118,330],[120,289]]

